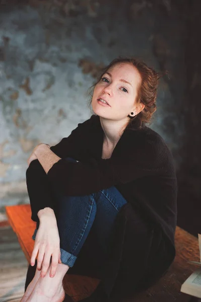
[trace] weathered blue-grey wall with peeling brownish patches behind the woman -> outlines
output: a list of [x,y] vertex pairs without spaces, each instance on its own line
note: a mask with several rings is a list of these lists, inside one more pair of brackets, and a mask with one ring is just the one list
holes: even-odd
[[[182,144],[178,116],[185,86],[184,23],[169,1],[127,4],[90,1],[76,7],[5,6],[0,13],[0,212],[28,203],[27,159],[40,142],[56,144],[90,117],[87,89],[100,66],[135,55],[157,70],[158,113],[152,128],[175,157]],[[122,7],[121,7],[122,6]],[[179,70],[179,72],[178,72]],[[179,73],[179,79],[175,74]],[[0,217],[1,219],[1,217]]]

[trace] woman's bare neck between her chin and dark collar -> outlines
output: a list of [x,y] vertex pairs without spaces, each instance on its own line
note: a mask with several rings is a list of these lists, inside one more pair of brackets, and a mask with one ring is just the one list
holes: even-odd
[[115,147],[126,127],[126,121],[114,121],[100,117],[100,123],[104,131],[104,141],[108,145]]

